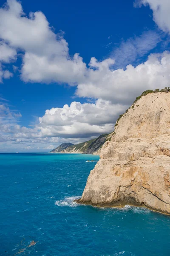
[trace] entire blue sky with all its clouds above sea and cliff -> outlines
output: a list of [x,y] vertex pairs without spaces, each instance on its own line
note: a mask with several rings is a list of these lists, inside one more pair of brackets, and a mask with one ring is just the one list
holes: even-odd
[[0,1],[0,152],[110,133],[170,86],[169,0]]

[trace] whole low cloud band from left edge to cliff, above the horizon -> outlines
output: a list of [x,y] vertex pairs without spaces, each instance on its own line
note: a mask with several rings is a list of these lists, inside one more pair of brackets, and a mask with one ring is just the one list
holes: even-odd
[[[51,149],[52,145],[54,148],[63,142],[77,144],[113,131],[117,116],[126,108],[125,105],[112,104],[102,99],[95,103],[72,102],[70,106],[46,110],[34,127],[27,128],[18,123],[20,112],[13,112],[2,104],[0,140],[10,142],[11,148],[12,144],[19,144],[24,145],[25,149],[25,145]],[[51,148],[48,148],[49,144]]]

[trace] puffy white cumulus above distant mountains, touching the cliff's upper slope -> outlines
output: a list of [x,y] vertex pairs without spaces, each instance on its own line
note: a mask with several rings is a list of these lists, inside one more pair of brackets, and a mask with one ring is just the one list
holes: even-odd
[[42,136],[90,137],[113,131],[113,124],[127,106],[98,99],[95,103],[72,102],[51,108],[39,118]]

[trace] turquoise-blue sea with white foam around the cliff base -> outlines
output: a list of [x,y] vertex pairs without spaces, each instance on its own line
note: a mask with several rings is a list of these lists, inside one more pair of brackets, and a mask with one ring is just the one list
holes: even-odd
[[73,203],[98,156],[0,154],[0,256],[170,256],[170,217]]

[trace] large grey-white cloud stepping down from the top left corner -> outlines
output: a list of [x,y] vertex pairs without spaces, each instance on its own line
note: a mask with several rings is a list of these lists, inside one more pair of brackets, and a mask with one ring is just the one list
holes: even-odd
[[77,83],[86,64],[76,53],[71,57],[63,35],[55,34],[42,12],[27,17],[16,0],[0,9],[0,38],[24,52],[21,78],[24,81]]

